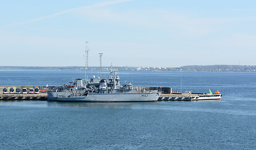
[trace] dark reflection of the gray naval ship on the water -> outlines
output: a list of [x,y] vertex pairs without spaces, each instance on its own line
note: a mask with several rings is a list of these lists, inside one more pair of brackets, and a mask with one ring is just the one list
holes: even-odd
[[[128,108],[138,104],[147,103],[84,103],[84,102],[54,102],[48,101],[47,105],[50,107],[71,107],[71,108]],[[150,104],[150,103],[148,103]]]

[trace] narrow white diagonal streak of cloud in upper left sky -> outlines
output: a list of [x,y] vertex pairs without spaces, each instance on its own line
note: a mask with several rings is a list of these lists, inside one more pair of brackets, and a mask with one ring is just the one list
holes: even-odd
[[128,1],[133,1],[133,0],[119,0],[119,1],[111,1],[111,2],[102,2],[102,3],[91,5],[91,6],[84,6],[84,7],[81,7],[81,8],[68,9],[66,11],[57,12],[55,14],[51,14],[51,15],[48,15],[48,16],[38,17],[36,19],[32,19],[32,20],[29,20],[29,21],[9,24],[9,25],[6,25],[6,26],[2,26],[0,28],[7,28],[7,27],[18,26],[18,25],[21,25],[21,24],[28,24],[30,22],[40,21],[40,20],[43,20],[43,19],[47,19],[49,17],[59,16],[61,14],[65,14],[65,13],[73,12],[73,11],[78,11],[78,10],[81,10],[81,9],[99,8],[101,6],[108,6],[108,5],[111,5],[111,4],[118,4],[118,3],[121,3],[121,2],[128,2]]

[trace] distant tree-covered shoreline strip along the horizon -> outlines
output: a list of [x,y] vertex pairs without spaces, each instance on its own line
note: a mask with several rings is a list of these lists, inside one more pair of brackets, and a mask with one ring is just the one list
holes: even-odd
[[[0,66],[0,69],[56,69],[56,70],[84,70],[84,66],[65,67],[36,67],[36,66]],[[103,67],[103,70],[110,70]],[[209,66],[182,66],[180,68],[151,68],[151,67],[113,67],[114,70],[131,71],[205,71],[205,72],[255,72],[256,66],[240,65],[209,65]],[[100,67],[89,67],[88,70],[100,70]]]

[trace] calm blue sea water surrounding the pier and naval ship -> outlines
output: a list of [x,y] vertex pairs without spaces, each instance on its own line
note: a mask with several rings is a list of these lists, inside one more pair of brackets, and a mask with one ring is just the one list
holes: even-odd
[[[98,75],[98,71],[89,72]],[[223,94],[221,101],[0,101],[0,149],[255,149],[256,74],[118,71],[134,86]],[[83,71],[0,70],[0,86],[58,86]],[[108,76],[104,72],[103,76]]]

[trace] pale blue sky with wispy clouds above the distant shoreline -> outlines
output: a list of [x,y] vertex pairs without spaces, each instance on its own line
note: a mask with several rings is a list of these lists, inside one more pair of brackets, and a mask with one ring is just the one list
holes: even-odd
[[11,0],[0,66],[256,65],[256,1]]

